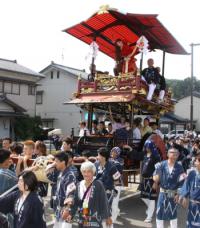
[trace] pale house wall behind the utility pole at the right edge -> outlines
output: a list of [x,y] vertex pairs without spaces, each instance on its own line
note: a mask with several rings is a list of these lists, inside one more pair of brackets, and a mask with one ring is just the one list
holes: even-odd
[[[175,105],[174,113],[183,118],[190,119],[191,96],[185,96],[178,100]],[[193,120],[195,122],[195,129],[200,131],[200,93],[193,92]]]

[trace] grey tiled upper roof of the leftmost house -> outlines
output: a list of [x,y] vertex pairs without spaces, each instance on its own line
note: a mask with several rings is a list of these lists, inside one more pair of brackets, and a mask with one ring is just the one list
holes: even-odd
[[0,70],[23,73],[36,77],[44,77],[44,75],[18,64],[16,60],[0,59]]

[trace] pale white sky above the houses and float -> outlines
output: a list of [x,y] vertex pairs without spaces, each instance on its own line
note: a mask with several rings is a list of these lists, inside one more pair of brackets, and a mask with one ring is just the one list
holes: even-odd
[[[0,0],[0,58],[14,60],[37,72],[55,63],[86,69],[89,46],[62,32],[89,18],[101,5],[126,13],[158,14],[159,21],[189,53],[200,43],[199,0]],[[162,53],[148,53],[162,66]],[[138,61],[139,62],[139,61]],[[194,76],[200,80],[200,46],[194,48]],[[99,53],[98,70],[112,73],[114,61]],[[191,76],[191,56],[166,54],[165,77]]]

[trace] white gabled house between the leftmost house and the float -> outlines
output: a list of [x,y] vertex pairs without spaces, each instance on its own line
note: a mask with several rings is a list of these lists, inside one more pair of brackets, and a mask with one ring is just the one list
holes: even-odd
[[40,73],[45,78],[37,87],[36,114],[41,116],[43,127],[61,128],[65,135],[70,135],[71,129],[75,128],[77,133],[82,111],[75,105],[64,105],[64,102],[77,91],[78,77],[86,79],[87,73],[54,62]]

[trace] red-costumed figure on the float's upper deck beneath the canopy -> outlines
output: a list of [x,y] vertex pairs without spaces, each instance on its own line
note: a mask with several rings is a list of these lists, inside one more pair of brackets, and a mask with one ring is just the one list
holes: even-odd
[[127,42],[122,41],[121,39],[115,41],[115,76],[118,76],[119,73],[136,72],[137,66],[135,63],[136,59],[134,58],[136,50],[137,46],[132,48],[127,44]]

